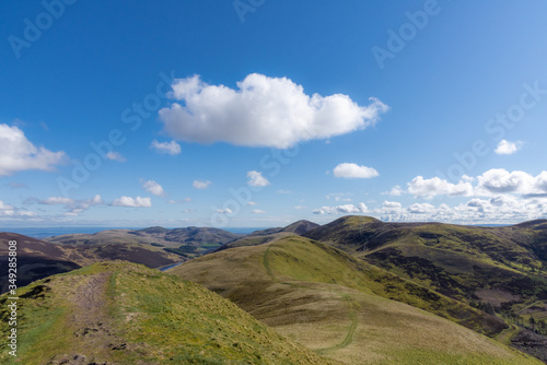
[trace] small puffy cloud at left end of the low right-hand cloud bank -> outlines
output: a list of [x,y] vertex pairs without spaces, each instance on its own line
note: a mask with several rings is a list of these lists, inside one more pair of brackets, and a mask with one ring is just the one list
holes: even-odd
[[422,176],[418,176],[408,182],[408,192],[415,197],[426,198],[435,196],[470,196],[473,195],[473,186],[470,182],[463,180],[452,184],[439,177],[424,179]]

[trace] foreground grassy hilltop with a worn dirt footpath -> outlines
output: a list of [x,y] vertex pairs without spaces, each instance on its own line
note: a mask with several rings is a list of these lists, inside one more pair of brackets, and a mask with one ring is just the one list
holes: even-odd
[[18,295],[19,356],[2,341],[2,364],[335,364],[200,285],[143,266],[96,263]]

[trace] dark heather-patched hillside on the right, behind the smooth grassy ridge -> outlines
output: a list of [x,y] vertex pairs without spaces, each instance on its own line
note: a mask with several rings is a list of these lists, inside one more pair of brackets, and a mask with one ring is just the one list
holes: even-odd
[[[345,216],[305,236],[498,314],[515,326],[508,340],[513,339],[515,345],[521,346],[517,333],[526,332],[524,327],[535,329],[536,320],[547,318],[545,220],[478,227]],[[543,341],[528,341],[531,353],[545,343],[545,337]],[[539,357],[547,361],[545,349]]]

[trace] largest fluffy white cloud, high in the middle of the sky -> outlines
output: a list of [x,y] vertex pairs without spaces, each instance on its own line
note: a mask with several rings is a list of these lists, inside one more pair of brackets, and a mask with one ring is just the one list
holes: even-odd
[[161,109],[160,120],[173,138],[198,143],[287,149],[364,129],[388,109],[376,98],[363,107],[342,94],[309,96],[287,78],[257,73],[237,82],[236,90],[209,85],[199,75],[172,86],[181,103]]

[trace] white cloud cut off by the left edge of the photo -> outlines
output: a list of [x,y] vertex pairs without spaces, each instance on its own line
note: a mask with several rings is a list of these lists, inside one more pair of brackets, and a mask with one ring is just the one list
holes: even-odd
[[0,125],[0,176],[26,169],[54,170],[68,156],[65,152],[51,152],[36,148],[16,126]]

